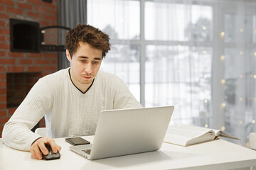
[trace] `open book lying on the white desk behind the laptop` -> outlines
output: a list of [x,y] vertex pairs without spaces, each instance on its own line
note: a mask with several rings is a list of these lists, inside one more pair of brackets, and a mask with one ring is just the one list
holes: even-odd
[[230,139],[239,140],[238,137],[230,136],[221,130],[191,125],[172,125],[169,126],[166,136],[164,137],[164,142],[186,147],[201,142],[215,140],[218,137],[228,137]]

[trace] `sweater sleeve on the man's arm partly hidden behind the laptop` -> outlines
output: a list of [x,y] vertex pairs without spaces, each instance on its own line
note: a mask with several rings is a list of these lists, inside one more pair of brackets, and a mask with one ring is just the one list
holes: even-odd
[[119,108],[142,108],[141,103],[139,103],[136,98],[129,91],[128,87],[124,84],[122,79],[119,77],[114,77],[114,109]]

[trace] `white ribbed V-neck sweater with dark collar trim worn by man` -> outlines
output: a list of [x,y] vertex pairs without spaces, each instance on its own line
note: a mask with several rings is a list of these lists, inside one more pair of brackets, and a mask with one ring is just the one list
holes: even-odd
[[4,125],[3,141],[15,149],[29,150],[39,135],[31,128],[43,116],[47,136],[94,135],[102,110],[141,108],[124,82],[114,74],[98,72],[90,89],[82,94],[62,69],[38,80]]

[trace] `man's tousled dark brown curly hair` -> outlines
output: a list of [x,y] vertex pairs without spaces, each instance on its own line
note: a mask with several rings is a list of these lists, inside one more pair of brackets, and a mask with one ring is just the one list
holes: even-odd
[[66,33],[65,47],[71,57],[78,50],[80,42],[87,42],[92,47],[102,50],[102,59],[110,50],[109,35],[90,25],[79,24]]

